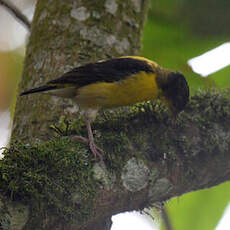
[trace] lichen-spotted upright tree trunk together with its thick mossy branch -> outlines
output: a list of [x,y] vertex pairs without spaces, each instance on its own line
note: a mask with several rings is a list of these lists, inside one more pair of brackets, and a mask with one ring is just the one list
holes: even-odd
[[[136,53],[146,11],[144,0],[39,0],[23,88]],[[12,142],[0,162],[0,229],[107,230],[114,214],[229,180],[228,93],[193,97],[176,123],[158,103],[105,111],[94,124],[104,163],[86,145],[53,138],[49,125],[73,111],[72,102],[20,98],[13,137],[26,144]],[[77,131],[86,134],[81,125]]]

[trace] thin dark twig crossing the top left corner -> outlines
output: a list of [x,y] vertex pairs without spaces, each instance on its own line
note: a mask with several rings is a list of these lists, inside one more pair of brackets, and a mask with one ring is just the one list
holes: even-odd
[[7,0],[0,0],[0,5],[4,6],[18,21],[30,30],[30,21],[15,5]]

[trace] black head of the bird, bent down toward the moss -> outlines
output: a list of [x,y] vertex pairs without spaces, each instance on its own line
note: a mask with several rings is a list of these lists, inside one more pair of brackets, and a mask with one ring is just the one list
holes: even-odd
[[160,82],[163,91],[163,102],[176,116],[189,101],[189,87],[183,74],[168,72],[164,81]]

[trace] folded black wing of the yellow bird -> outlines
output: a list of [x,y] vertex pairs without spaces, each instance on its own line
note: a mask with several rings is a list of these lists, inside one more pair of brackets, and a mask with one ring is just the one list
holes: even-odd
[[119,81],[141,71],[154,72],[146,61],[128,57],[114,58],[74,68],[48,84],[74,84],[81,87],[96,82]]

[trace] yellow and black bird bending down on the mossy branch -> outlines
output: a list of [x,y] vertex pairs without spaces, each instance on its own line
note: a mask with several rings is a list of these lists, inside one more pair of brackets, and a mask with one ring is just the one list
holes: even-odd
[[104,151],[94,142],[91,122],[104,108],[129,106],[159,99],[174,116],[189,101],[189,87],[184,75],[168,70],[141,56],[122,56],[88,63],[64,73],[46,84],[22,92],[70,98],[83,110],[91,152],[100,160]]

